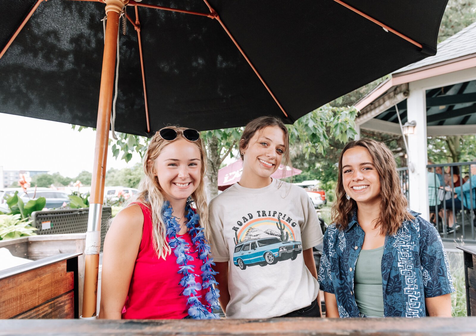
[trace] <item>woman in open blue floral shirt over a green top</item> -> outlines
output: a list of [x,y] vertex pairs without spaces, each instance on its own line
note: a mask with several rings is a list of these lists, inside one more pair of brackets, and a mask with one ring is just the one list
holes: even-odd
[[326,316],[451,316],[443,244],[407,209],[387,146],[368,138],[346,145],[336,198],[319,268]]

